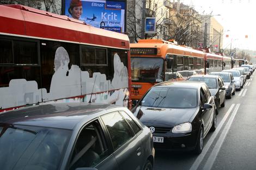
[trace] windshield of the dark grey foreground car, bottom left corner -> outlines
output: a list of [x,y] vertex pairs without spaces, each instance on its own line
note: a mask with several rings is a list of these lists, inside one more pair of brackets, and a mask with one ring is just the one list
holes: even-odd
[[59,169],[71,131],[0,124],[1,170]]

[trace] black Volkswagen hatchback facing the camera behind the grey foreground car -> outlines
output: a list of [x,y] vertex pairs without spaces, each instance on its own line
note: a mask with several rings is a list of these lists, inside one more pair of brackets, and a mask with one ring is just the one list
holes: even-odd
[[150,128],[156,149],[200,154],[204,137],[216,129],[214,99],[205,83],[166,81],[151,87],[132,112]]

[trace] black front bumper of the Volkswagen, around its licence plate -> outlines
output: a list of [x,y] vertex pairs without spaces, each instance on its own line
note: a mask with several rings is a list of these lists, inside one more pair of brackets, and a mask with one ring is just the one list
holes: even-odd
[[196,148],[198,130],[191,133],[173,134],[168,133],[155,133],[153,136],[163,137],[163,143],[154,142],[155,149],[161,150],[193,150]]

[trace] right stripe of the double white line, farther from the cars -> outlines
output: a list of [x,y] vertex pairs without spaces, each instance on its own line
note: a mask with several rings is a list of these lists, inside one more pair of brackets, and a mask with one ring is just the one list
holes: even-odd
[[210,156],[208,157],[208,160],[206,161],[205,163],[205,166],[204,166],[204,170],[210,170],[212,168],[212,165],[214,165],[214,161],[218,155],[218,152],[220,151],[221,149],[221,146],[222,146],[222,143],[224,142],[225,140],[225,137],[227,136],[228,134],[228,131],[231,127],[231,124],[233,123],[234,121],[234,118],[235,118],[235,115],[237,113],[237,110],[239,109],[239,106],[240,104],[237,104],[235,106],[235,109],[233,111],[233,113],[231,114],[229,120],[228,120],[228,123],[225,125],[221,135],[220,135],[220,138],[218,138],[218,141],[216,142],[215,146],[214,146],[214,149],[212,149],[212,152],[210,154]]

